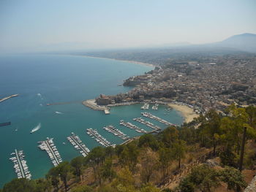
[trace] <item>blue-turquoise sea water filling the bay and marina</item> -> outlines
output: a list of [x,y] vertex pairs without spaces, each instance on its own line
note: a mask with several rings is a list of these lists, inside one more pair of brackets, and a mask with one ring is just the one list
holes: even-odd
[[[0,127],[0,188],[16,177],[9,160],[15,148],[24,150],[32,178],[38,178],[43,177],[53,166],[47,153],[37,147],[37,142],[46,137],[54,138],[61,157],[69,161],[80,155],[66,139],[70,132],[78,134],[86,146],[92,149],[99,144],[86,134],[86,128],[97,128],[99,134],[116,144],[123,140],[103,130],[102,126],[112,124],[130,137],[140,135],[119,126],[119,120],[123,119],[151,130],[132,120],[141,116],[140,104],[112,107],[111,114],[105,115],[84,107],[80,102],[93,99],[100,93],[108,95],[127,92],[130,88],[118,86],[123,80],[151,69],[150,66],[104,58],[67,55],[0,56],[0,98],[20,94],[0,103],[0,123],[12,122],[12,126]],[[69,101],[72,103],[45,105]],[[157,111],[148,111],[171,123],[181,124],[183,120],[175,110],[167,112],[165,106],[159,106]],[[162,128],[166,127],[162,123],[150,121]],[[34,134],[29,134],[39,123],[42,127]]]

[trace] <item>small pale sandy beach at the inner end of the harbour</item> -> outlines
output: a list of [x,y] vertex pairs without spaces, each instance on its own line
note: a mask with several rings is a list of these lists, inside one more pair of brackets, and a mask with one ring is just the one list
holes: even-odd
[[184,117],[184,121],[186,123],[191,122],[194,118],[199,117],[194,110],[186,105],[181,104],[168,104],[168,106],[172,107],[174,110],[181,112],[181,115]]

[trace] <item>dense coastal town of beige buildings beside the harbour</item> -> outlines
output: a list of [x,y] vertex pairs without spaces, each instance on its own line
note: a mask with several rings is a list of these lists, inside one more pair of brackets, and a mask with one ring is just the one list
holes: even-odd
[[222,112],[229,104],[256,104],[256,55],[198,56],[191,61],[167,60],[154,70],[129,77],[128,93],[100,95],[99,105],[134,101],[178,102],[205,113]]

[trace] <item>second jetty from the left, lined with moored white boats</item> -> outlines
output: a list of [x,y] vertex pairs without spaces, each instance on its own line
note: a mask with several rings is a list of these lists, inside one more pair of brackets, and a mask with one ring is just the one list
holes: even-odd
[[57,166],[62,162],[61,155],[59,154],[59,151],[57,150],[56,146],[54,145],[53,138],[47,137],[45,141],[38,142],[40,145],[38,147],[41,150],[46,150],[48,153],[50,160],[53,163],[53,166]]

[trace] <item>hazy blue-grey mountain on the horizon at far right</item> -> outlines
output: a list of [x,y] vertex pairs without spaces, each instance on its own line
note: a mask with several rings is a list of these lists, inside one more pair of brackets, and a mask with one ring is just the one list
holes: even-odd
[[238,34],[211,45],[256,53],[256,34]]

